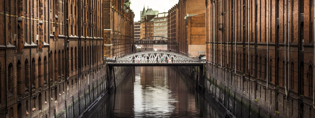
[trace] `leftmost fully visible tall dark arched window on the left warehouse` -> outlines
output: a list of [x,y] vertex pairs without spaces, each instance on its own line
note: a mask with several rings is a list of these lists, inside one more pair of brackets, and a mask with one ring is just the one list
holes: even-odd
[[13,65],[12,63],[9,64],[8,67],[8,86],[9,86],[9,91],[8,91],[8,96],[13,96],[14,94],[14,71],[13,71]]

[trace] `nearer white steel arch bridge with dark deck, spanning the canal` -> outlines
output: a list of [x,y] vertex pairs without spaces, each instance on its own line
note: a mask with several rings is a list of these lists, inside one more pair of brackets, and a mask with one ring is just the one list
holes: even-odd
[[205,63],[206,61],[202,59],[166,51],[134,53],[107,62],[109,66],[201,66]]

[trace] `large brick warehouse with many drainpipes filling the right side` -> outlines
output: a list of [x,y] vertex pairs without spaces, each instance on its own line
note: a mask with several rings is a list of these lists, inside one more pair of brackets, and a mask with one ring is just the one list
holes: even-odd
[[313,117],[314,1],[206,6],[206,90],[237,117]]

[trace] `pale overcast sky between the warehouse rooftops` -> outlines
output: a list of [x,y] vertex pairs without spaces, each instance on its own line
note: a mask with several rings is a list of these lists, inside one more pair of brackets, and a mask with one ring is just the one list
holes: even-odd
[[168,12],[175,4],[178,3],[178,0],[130,0],[130,8],[135,13],[134,21],[140,20],[140,11],[143,10],[143,5],[147,9],[152,8],[153,10],[158,10],[159,13]]

